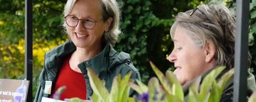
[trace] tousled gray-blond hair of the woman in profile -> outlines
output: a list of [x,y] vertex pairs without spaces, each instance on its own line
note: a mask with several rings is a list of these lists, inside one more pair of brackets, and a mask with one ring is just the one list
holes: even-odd
[[[205,13],[210,21],[199,10],[196,10],[191,16],[192,10],[178,13],[170,30],[171,38],[174,38],[175,30],[180,28],[198,47],[203,48],[206,41],[212,41],[216,46],[215,66],[226,65],[233,68],[235,52],[234,11],[230,11],[218,1],[201,4],[198,9]],[[250,64],[250,55],[248,55],[248,60]]]

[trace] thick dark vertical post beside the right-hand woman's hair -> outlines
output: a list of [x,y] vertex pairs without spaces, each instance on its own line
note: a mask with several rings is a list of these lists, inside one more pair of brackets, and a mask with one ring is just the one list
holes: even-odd
[[234,102],[246,102],[247,96],[249,1],[236,1]]

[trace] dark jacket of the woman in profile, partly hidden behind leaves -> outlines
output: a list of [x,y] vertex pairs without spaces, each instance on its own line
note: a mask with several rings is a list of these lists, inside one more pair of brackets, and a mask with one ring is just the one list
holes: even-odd
[[[214,67],[215,68],[215,67]],[[202,76],[202,80],[203,78],[208,74],[210,73],[214,68],[211,68],[210,70],[207,70],[206,72],[202,73],[201,76]],[[220,77],[226,73],[227,71],[229,71],[228,68],[224,69],[216,78],[216,80],[218,81],[220,79]],[[195,78],[196,79],[196,78]],[[183,85],[182,88],[183,88],[183,91],[184,91],[184,102],[187,102],[188,101],[188,92],[189,92],[189,87],[190,85],[194,82],[193,79],[192,81],[188,82],[187,84]],[[201,80],[201,82],[202,82]],[[201,83],[200,82],[200,83]],[[223,93],[226,93],[226,92],[232,92],[233,94],[233,88],[234,88],[234,76],[230,77],[230,79],[227,81],[225,87],[224,87],[224,90],[222,92],[222,99],[224,100],[220,100],[221,102],[222,101],[225,101],[225,98],[223,98],[223,96],[225,97],[225,95],[223,95]],[[199,88],[200,89],[200,88]],[[254,78],[254,75],[252,73],[250,73],[250,69],[248,69],[248,76],[247,76],[247,96],[249,97],[253,91],[256,91],[256,84],[255,84],[255,78]],[[232,96],[231,96],[232,98]]]

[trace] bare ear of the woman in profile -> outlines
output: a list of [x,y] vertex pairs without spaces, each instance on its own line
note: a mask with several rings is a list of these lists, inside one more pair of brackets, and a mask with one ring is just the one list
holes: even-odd
[[207,63],[211,63],[214,60],[215,53],[216,46],[213,44],[212,41],[206,41],[204,46],[205,61]]

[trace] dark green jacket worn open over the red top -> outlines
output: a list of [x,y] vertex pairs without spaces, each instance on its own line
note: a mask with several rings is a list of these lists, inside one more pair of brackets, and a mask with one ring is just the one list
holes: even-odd
[[[45,53],[43,70],[39,76],[39,87],[35,96],[34,102],[41,102],[42,97],[50,97],[48,94],[44,94],[45,81],[52,81],[52,92],[56,82],[59,68],[62,65],[63,60],[67,55],[72,54],[76,50],[76,46],[71,40],[51,49]],[[103,51],[95,57],[83,61],[78,64],[78,67],[82,71],[85,83],[86,83],[86,99],[89,100],[89,96],[92,95],[93,91],[89,83],[86,68],[91,68],[98,75],[101,80],[105,80],[105,86],[110,91],[112,81],[115,76],[121,74],[122,78],[129,72],[132,71],[130,76],[131,79],[140,79],[139,71],[133,66],[130,59],[130,55],[124,52],[117,52],[112,46],[106,44]],[[134,95],[136,91],[130,90],[130,96]],[[53,94],[53,93],[51,93]]]

